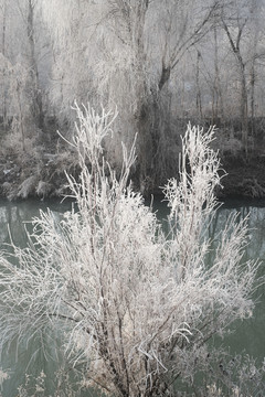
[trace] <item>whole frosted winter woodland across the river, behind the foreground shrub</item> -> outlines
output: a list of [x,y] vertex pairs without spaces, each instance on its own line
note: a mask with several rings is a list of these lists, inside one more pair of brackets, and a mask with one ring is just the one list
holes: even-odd
[[[1,0],[1,194],[63,193],[76,159],[57,130],[71,140],[75,100],[117,109],[106,142],[117,170],[117,142],[131,147],[137,135],[131,176],[144,194],[176,175],[188,121],[219,128],[227,171],[235,159],[255,168],[264,144],[264,14],[263,0]],[[239,194],[263,196],[263,182],[248,178]]]

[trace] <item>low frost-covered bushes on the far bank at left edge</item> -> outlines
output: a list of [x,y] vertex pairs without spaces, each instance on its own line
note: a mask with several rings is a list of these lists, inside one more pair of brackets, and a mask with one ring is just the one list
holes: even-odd
[[14,135],[0,146],[0,196],[13,200],[39,200],[66,193],[66,176],[75,173],[75,153],[59,139],[43,132],[23,143]]

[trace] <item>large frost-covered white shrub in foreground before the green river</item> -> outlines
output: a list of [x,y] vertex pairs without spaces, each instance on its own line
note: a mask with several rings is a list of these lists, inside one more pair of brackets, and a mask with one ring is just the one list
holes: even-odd
[[[119,174],[104,139],[116,115],[76,106],[82,173],[68,178],[77,211],[34,219],[29,246],[0,258],[0,347],[52,328],[64,335],[84,384],[115,396],[162,396],[192,385],[214,334],[250,315],[256,265],[242,262],[245,221],[231,217],[214,253],[208,226],[218,207],[220,162],[213,130],[183,138],[180,181],[165,187],[170,236],[129,184],[135,147]],[[211,264],[209,264],[211,258]],[[206,265],[208,264],[208,265]],[[212,352],[211,352],[212,354]]]

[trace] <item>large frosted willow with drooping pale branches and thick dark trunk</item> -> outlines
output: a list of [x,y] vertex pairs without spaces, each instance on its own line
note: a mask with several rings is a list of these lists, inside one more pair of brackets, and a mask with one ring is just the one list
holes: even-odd
[[[138,132],[138,176],[160,179],[170,93],[180,60],[209,30],[218,2],[42,1],[54,42],[53,98],[63,114],[78,100],[117,106],[123,140]],[[55,10],[60,9],[60,14]],[[171,83],[171,84],[170,84]],[[114,157],[117,144],[113,146]]]

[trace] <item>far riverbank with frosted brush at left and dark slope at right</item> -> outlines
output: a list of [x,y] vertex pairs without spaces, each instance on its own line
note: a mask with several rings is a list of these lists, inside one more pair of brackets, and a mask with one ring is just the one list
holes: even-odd
[[[52,129],[54,130],[54,128]],[[222,168],[226,175],[222,179],[223,189],[218,192],[221,198],[265,197],[265,144],[263,137],[256,139],[248,155],[243,152],[240,139],[231,139],[230,132],[218,130],[214,149],[219,150]],[[222,133],[220,133],[222,131]],[[262,139],[261,139],[262,138]],[[178,153],[174,153],[178,157]],[[170,160],[172,162],[172,159]],[[40,132],[23,144],[10,135],[0,147],[0,196],[13,200],[34,197],[38,200],[61,197],[67,194],[65,172],[78,175],[76,153],[56,133]],[[136,175],[132,175],[132,180]],[[138,185],[138,181],[135,181]],[[159,186],[150,192],[161,193]]]

